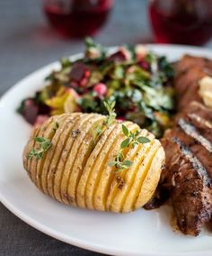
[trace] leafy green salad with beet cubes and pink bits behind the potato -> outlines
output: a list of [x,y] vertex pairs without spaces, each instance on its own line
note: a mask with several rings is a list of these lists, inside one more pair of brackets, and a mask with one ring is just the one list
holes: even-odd
[[109,52],[86,38],[84,57],[61,59],[60,69],[49,74],[45,87],[23,99],[17,111],[37,124],[54,114],[106,114],[103,102],[115,101],[119,120],[131,120],[161,137],[174,114],[172,78],[167,59],[143,45]]

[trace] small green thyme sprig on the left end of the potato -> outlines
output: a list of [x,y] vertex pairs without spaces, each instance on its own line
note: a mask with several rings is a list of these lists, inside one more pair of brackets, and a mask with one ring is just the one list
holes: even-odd
[[44,152],[49,150],[51,142],[49,139],[46,139],[44,137],[35,137],[34,141],[39,143],[40,148],[32,149],[29,152],[28,158],[31,160],[32,157],[36,157],[37,160],[40,160],[43,157]]

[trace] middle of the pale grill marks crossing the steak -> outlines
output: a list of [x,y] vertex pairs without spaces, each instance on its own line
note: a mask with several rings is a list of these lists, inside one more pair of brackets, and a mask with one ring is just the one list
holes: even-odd
[[178,121],[178,125],[181,130],[192,137],[195,141],[199,142],[203,147],[205,147],[210,153],[212,153],[212,143],[209,142],[204,136],[202,136],[198,130],[190,123],[187,123],[184,119]]

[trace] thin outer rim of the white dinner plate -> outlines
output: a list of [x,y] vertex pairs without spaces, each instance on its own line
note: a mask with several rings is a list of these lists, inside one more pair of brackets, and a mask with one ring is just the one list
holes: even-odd
[[[147,48],[149,49],[162,49],[164,50],[165,48],[169,48],[174,49],[174,50],[180,50],[180,51],[196,51],[199,52],[200,56],[204,56],[204,55],[211,55],[212,56],[212,52],[210,50],[210,48],[202,48],[202,47],[194,47],[194,46],[187,46],[187,45],[177,45],[177,44],[144,44]],[[108,47],[109,50],[115,50],[117,49],[118,46],[112,46],[112,47]],[[68,58],[70,59],[77,59],[80,58],[82,56],[83,53],[76,53],[73,54],[71,56],[69,56]],[[205,57],[205,56],[204,56]],[[53,61],[51,63],[49,63],[48,65],[45,65],[43,67],[41,67],[40,69],[36,69],[33,72],[31,72],[29,75],[23,77],[22,79],[20,79],[18,82],[16,82],[12,87],[10,87],[8,90],[6,90],[3,94],[3,96],[0,97],[0,107],[1,107],[1,103],[4,102],[4,99],[6,99],[8,96],[10,96],[11,93],[13,93],[13,91],[18,90],[21,84],[24,84],[25,81],[27,79],[31,79],[32,77],[37,76],[40,72],[44,72],[44,70],[46,69],[50,69],[51,67],[57,67],[58,66],[59,61]],[[53,68],[54,69],[54,68]],[[31,227],[39,230],[42,233],[45,233],[59,241],[62,242],[66,242],[68,244],[72,244],[75,245],[77,247],[80,248],[84,248],[85,250],[89,250],[89,251],[97,251],[100,253],[107,253],[107,254],[114,254],[115,255],[129,255],[128,253],[130,253],[129,251],[121,251],[120,249],[117,248],[108,248],[106,245],[102,246],[102,245],[98,245],[96,243],[92,243],[92,242],[86,242],[84,239],[80,240],[75,238],[74,236],[71,235],[66,235],[60,232],[55,231],[52,228],[49,228],[47,225],[44,224],[40,224],[39,221],[36,221],[35,219],[33,219],[31,216],[26,215],[22,209],[13,206],[13,204],[6,199],[6,197],[4,197],[3,193],[1,193],[0,190],[0,201],[1,203],[10,211],[13,213],[13,215],[16,215],[18,218],[20,218],[23,222],[25,222],[26,224],[30,224]],[[133,252],[130,253],[130,255],[143,255],[143,256],[177,256],[179,254],[181,254],[181,256],[198,256],[199,253],[201,253],[201,255],[205,255],[205,256],[209,256],[211,255],[212,250],[210,251],[198,251],[198,252],[173,252],[172,254],[170,252],[157,252],[155,254],[155,252],[149,252],[149,253],[142,253],[141,252]]]

